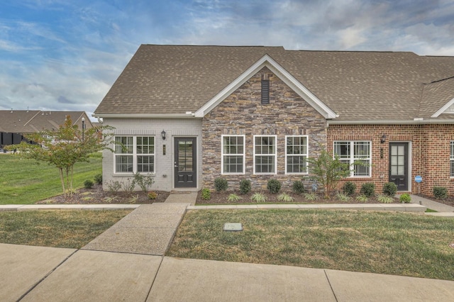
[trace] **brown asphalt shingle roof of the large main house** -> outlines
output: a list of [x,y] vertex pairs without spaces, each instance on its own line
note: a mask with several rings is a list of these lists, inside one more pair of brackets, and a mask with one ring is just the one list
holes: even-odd
[[[335,111],[339,121],[431,116],[445,103],[428,85],[454,77],[454,57],[421,57],[413,52],[140,45],[95,115],[194,112],[264,55]],[[445,84],[442,99],[449,97],[454,98],[454,86]]]

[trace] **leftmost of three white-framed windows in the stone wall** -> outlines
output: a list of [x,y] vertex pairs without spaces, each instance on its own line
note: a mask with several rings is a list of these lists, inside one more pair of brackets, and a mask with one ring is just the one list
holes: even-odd
[[244,135],[222,136],[222,174],[244,173]]

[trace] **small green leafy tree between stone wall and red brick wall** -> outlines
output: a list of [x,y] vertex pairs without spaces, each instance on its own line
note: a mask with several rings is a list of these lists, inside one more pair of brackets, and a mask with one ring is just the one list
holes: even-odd
[[328,199],[331,191],[341,179],[350,175],[350,165],[339,160],[338,155],[332,157],[324,148],[319,157],[309,157],[309,173],[323,186],[325,198]]

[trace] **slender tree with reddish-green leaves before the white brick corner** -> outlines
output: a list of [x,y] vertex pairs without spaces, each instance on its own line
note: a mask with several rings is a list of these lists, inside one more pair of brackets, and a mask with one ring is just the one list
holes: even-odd
[[[70,197],[73,194],[74,164],[89,162],[90,154],[108,149],[110,134],[106,131],[111,129],[110,126],[101,126],[80,130],[77,125],[72,125],[70,116],[67,116],[65,123],[57,131],[44,130],[27,135],[28,140],[35,142],[35,145],[23,141],[8,148],[17,149],[24,157],[57,167],[63,194]],[[99,133],[102,133],[102,138]]]

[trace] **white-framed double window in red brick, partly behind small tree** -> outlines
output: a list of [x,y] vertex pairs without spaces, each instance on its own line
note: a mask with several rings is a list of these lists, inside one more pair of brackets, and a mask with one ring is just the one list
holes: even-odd
[[350,177],[370,177],[370,150],[370,142],[334,142],[334,155],[350,165]]

